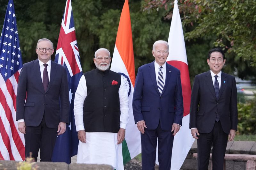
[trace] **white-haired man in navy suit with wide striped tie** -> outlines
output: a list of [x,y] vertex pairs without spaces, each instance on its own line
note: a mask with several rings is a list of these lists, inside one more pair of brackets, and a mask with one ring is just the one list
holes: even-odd
[[166,63],[166,41],[156,41],[152,54],[155,61],[141,66],[137,73],[133,115],[141,132],[142,169],[154,169],[158,141],[159,170],[167,170],[171,168],[173,137],[183,117],[180,71]]

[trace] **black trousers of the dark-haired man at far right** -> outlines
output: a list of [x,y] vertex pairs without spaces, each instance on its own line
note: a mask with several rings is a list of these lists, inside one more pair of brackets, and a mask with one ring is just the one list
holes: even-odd
[[228,143],[228,134],[226,134],[221,123],[215,122],[212,132],[200,133],[197,139],[197,169],[207,170],[212,148],[212,169],[223,169],[223,161],[225,157],[226,147]]

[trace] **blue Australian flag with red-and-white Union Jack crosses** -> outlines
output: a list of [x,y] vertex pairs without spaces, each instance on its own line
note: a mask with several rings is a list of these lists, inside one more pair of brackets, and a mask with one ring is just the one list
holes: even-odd
[[76,42],[76,32],[73,19],[71,0],[67,0],[60,27],[60,35],[55,55],[55,62],[64,65],[67,70],[69,86],[69,120],[66,132],[57,137],[52,155],[53,162],[66,162],[77,154],[78,138],[74,119],[74,98],[76,88],[83,75],[80,64],[79,50]]

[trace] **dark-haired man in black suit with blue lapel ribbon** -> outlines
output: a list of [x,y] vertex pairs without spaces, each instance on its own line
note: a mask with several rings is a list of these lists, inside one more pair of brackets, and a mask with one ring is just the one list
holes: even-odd
[[197,139],[198,170],[207,170],[211,147],[212,169],[222,169],[227,143],[236,135],[236,80],[221,71],[225,62],[220,48],[209,51],[210,70],[196,75],[192,88],[189,128]]

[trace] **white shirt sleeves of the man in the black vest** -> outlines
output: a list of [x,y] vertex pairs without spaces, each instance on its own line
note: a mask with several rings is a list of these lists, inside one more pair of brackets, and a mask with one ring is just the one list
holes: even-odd
[[[129,119],[129,99],[127,89],[124,84],[124,77],[121,77],[121,83],[118,90],[120,100],[120,128],[125,129]],[[84,130],[84,100],[87,96],[86,79],[84,75],[80,78],[79,84],[76,89],[74,100],[74,115],[76,122],[76,131]]]

